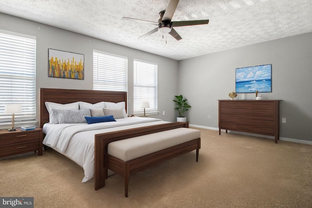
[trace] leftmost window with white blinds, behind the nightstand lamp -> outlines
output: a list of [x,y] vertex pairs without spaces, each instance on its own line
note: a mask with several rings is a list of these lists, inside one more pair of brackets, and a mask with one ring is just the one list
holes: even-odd
[[0,30],[0,124],[12,121],[5,104],[21,104],[16,122],[36,120],[36,38]]

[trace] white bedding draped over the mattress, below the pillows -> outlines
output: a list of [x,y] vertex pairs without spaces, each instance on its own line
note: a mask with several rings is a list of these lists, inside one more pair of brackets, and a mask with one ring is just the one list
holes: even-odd
[[82,182],[94,177],[94,135],[169,123],[156,118],[126,117],[97,124],[44,124],[43,144],[67,156],[84,170]]

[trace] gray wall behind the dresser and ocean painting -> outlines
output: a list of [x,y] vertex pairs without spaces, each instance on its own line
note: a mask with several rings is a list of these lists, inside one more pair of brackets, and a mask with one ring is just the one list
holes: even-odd
[[218,128],[217,100],[235,92],[235,68],[262,64],[272,64],[273,91],[262,97],[283,100],[280,137],[312,141],[312,33],[179,61],[178,94],[192,106],[190,124]]

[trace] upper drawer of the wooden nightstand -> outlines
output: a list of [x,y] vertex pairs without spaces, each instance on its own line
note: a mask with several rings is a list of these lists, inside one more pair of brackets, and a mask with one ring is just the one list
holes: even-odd
[[22,142],[39,142],[40,132],[35,131],[20,131],[15,132],[14,134],[8,133],[0,135],[0,148],[2,146],[10,145],[10,144],[19,144]]

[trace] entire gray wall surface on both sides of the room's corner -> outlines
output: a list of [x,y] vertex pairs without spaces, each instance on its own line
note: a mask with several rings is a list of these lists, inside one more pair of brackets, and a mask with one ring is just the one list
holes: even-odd
[[[212,129],[218,128],[217,100],[229,99],[235,91],[235,68],[271,63],[273,93],[262,96],[283,100],[280,117],[286,117],[287,123],[280,123],[280,136],[312,141],[312,33],[175,61],[1,13],[0,19],[2,30],[37,37],[37,118],[40,88],[92,90],[94,49],[128,57],[129,114],[133,113],[133,59],[137,58],[158,64],[159,113],[153,117],[175,121],[172,100],[182,94],[192,105],[186,113],[190,124]],[[48,48],[84,54],[85,79],[48,77]]]

